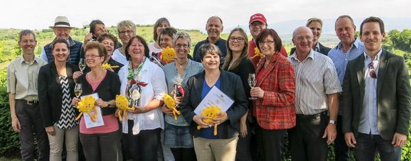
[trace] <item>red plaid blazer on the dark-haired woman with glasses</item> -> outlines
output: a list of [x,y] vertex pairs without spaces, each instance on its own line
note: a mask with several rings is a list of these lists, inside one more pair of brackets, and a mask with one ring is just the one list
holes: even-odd
[[253,115],[258,125],[266,130],[292,128],[295,126],[294,68],[279,53],[275,53],[269,65],[262,70],[265,61],[263,57],[256,68],[256,87],[264,90],[264,97],[253,101]]

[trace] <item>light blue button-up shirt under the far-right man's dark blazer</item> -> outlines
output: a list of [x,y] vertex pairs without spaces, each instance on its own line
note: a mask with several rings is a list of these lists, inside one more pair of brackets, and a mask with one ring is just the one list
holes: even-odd
[[364,100],[362,100],[362,109],[360,123],[358,124],[358,132],[364,134],[379,134],[377,127],[378,120],[378,105],[377,105],[377,78],[372,78],[370,76],[370,69],[368,68],[369,63],[373,62],[373,68],[375,69],[375,74],[378,76],[378,66],[381,57],[382,50],[379,50],[377,57],[371,60],[371,57],[364,52],[364,80],[365,80],[365,90],[364,90]]

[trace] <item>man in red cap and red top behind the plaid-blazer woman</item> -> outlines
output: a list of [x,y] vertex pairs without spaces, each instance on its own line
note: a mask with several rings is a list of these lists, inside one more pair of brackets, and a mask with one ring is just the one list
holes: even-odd
[[[250,17],[250,21],[249,21],[249,29],[250,29],[250,33],[251,36],[253,36],[253,39],[251,39],[249,41],[249,57],[250,59],[256,55],[256,51],[254,50],[254,48],[256,48],[256,38],[258,36],[258,34],[260,34],[260,32],[262,31],[262,29],[266,29],[267,28],[267,20],[264,17],[263,14],[253,14],[253,16]],[[281,46],[281,51],[280,53],[282,55],[284,55],[284,57],[287,57],[287,51],[284,48],[284,46]],[[258,57],[258,56],[256,56]],[[257,63],[260,61],[260,59],[251,59],[254,68],[256,67]]]

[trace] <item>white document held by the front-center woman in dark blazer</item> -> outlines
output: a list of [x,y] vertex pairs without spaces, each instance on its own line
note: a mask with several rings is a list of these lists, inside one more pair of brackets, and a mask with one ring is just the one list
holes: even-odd
[[207,93],[206,97],[201,100],[199,106],[195,108],[194,113],[200,115],[201,111],[208,106],[218,106],[221,111],[225,112],[232,104],[234,104],[234,101],[214,86]]

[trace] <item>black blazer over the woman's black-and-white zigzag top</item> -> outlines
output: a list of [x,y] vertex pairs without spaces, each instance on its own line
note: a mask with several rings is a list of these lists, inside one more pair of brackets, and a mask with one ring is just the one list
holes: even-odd
[[[79,71],[76,65],[66,63],[66,73],[71,98],[74,97],[73,73]],[[62,115],[62,85],[54,61],[43,65],[38,72],[38,102],[43,126],[53,126]],[[76,111],[77,112],[77,111]]]

